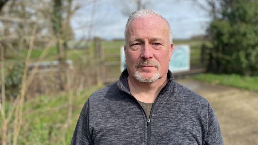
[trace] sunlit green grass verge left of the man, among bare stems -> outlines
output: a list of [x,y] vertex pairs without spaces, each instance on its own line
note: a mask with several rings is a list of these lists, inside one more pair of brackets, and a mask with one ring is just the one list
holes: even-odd
[[[81,95],[73,96],[72,123],[67,128],[63,127],[68,115],[67,93],[42,95],[27,100],[24,104],[23,124],[18,144],[70,144],[84,103],[93,91],[101,87],[103,86],[93,86],[81,92]],[[13,121],[14,118],[8,127],[9,134],[13,131]],[[1,124],[0,116],[0,126]]]

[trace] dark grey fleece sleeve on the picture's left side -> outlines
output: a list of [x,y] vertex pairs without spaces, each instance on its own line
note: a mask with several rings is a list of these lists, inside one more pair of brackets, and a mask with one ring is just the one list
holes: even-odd
[[89,132],[89,99],[84,104],[70,145],[93,144]]

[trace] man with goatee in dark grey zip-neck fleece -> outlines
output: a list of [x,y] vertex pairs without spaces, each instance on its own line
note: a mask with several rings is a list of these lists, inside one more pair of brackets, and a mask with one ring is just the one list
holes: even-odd
[[224,144],[207,100],[173,81],[167,20],[133,12],[125,43],[127,69],[89,97],[71,144]]

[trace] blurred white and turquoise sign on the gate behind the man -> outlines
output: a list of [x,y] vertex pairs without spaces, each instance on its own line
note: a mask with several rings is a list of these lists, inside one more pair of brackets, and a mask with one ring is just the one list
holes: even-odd
[[[120,69],[121,72],[126,69],[124,47],[120,48]],[[174,45],[171,61],[169,62],[169,70],[173,73],[184,72],[190,70],[190,46]]]

